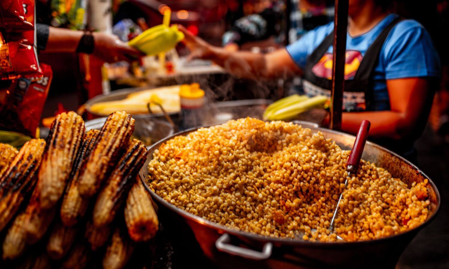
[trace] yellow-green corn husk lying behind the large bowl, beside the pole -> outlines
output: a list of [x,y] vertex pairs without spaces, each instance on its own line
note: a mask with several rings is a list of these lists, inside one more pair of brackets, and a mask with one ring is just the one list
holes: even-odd
[[304,111],[311,108],[316,108],[322,106],[327,101],[326,96],[317,95],[312,98],[307,98],[306,100],[294,102],[283,106],[282,108],[276,109],[267,115],[267,119],[270,121],[286,121],[297,116]]

